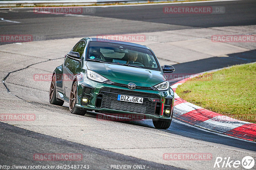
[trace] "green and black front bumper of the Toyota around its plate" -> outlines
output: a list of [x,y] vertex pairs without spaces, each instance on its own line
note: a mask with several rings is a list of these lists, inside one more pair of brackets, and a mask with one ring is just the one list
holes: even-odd
[[[94,110],[101,113],[139,114],[144,119],[172,119],[173,90],[157,91],[154,89],[130,90],[125,86],[116,86],[112,83],[99,83],[85,78],[78,81],[77,107],[85,110]],[[117,101],[117,95],[143,97],[143,103]],[[84,103],[82,99],[88,98]],[[165,110],[170,113],[166,114]]]

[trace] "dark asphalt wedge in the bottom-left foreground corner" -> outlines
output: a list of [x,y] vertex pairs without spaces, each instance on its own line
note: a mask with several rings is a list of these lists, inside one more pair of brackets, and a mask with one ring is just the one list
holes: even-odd
[[[52,153],[82,153],[83,160],[79,161],[79,165],[89,165],[90,169],[110,169],[110,165],[145,165],[146,169],[181,169],[173,166],[167,166],[125,156],[123,154],[105,151],[94,147],[77,144],[60,138],[53,138],[44,134],[36,133],[21,129],[9,124],[0,122],[1,129],[1,159],[0,165],[10,164],[36,166],[38,162],[33,160],[33,154],[44,152],[45,150]],[[12,142],[10,142],[12,141]],[[22,143],[21,143],[22,141]],[[10,148],[20,148],[20,150],[10,150]],[[15,155],[15,157],[12,157]],[[74,165],[74,161],[41,161],[41,166],[58,166],[58,165]]]

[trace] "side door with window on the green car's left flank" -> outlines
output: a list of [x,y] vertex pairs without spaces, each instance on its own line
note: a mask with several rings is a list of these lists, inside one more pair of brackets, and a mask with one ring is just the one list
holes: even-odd
[[76,68],[81,66],[81,58],[84,53],[84,47],[86,42],[84,40],[79,41],[74,48],[71,50],[73,52],[78,52],[80,55],[80,59],[74,59],[72,57],[68,57],[66,55],[65,61],[63,63],[63,85],[64,85],[64,93],[65,96],[69,98],[70,91],[72,88],[72,83],[74,80],[74,76],[76,75]]

